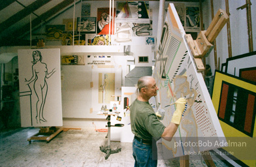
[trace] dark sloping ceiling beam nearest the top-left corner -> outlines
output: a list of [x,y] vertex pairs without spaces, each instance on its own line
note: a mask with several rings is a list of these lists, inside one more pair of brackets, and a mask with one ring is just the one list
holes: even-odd
[[14,23],[18,22],[19,20],[22,20],[25,18],[25,16],[28,16],[38,8],[42,7],[46,3],[50,2],[52,0],[37,0],[34,3],[31,3],[31,5],[28,5],[24,9],[20,10],[16,14],[12,15],[10,18],[5,20],[4,22],[0,23],[0,32],[4,31]]

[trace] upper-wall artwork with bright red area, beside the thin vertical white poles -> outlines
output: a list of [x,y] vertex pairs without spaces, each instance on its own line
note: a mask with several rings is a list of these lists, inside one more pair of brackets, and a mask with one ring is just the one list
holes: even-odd
[[[114,25],[115,22],[113,18],[116,17],[116,8],[114,10],[114,16],[112,13],[109,14],[109,8],[98,8],[97,9],[97,34],[98,35],[111,35],[114,34]],[[110,28],[109,28],[110,26]],[[110,32],[109,32],[110,31]]]

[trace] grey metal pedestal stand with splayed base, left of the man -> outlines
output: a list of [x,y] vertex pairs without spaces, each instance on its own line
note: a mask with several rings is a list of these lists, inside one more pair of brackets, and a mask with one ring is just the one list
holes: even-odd
[[106,125],[106,127],[108,127],[108,134],[106,136],[106,138],[108,138],[108,145],[106,145],[106,147],[103,147],[103,145],[101,145],[99,147],[99,149],[101,151],[103,151],[103,153],[106,153],[105,159],[108,159],[110,154],[119,153],[121,151],[121,148],[119,148],[119,147],[114,150],[111,149],[111,147],[110,147],[110,127],[123,127],[123,124],[111,125],[110,116],[111,115],[108,115],[108,117],[106,117],[106,119],[108,120],[108,125]]

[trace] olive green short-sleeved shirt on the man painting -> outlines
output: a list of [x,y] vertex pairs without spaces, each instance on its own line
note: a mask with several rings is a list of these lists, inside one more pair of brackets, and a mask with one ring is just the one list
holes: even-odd
[[152,137],[161,138],[165,125],[157,119],[149,102],[136,99],[130,108],[131,131],[135,136],[144,140],[152,140]]

